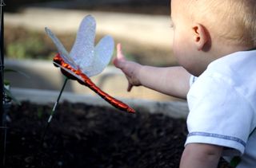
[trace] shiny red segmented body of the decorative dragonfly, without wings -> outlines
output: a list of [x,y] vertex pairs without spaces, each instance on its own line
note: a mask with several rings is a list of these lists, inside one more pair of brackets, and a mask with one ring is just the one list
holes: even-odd
[[[66,77],[68,77],[72,80],[78,80],[78,82],[80,84],[85,85],[88,88],[90,88],[91,90],[93,90],[94,92],[96,92],[99,96],[102,97],[102,99],[106,100],[109,104],[113,105],[114,107],[117,107],[118,109],[120,109],[122,111],[127,111],[129,113],[135,112],[134,109],[129,107],[127,104],[124,104],[122,101],[116,100],[114,97],[108,95],[106,92],[103,92],[100,88],[98,88],[98,86],[96,86],[96,84],[94,84],[94,82],[92,80],[90,80],[90,78],[88,76],[86,76],[86,74],[81,72],[79,69],[76,70],[76,69],[72,68],[70,66],[70,64],[67,64],[65,61],[63,61],[62,57],[60,57],[59,54],[57,54],[54,57],[54,62],[56,64],[58,64],[57,66],[62,66],[62,68],[66,69],[66,70],[62,70],[62,73]],[[78,77],[72,75],[72,73],[70,73],[68,71],[74,72],[74,74],[76,74],[77,76],[80,76],[81,78],[78,78]]]

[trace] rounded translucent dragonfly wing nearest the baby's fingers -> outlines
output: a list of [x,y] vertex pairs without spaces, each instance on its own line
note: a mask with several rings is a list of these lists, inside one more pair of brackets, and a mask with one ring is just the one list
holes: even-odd
[[110,63],[114,52],[114,39],[110,36],[103,37],[94,49],[94,59],[89,67],[82,67],[82,72],[87,76],[95,76]]

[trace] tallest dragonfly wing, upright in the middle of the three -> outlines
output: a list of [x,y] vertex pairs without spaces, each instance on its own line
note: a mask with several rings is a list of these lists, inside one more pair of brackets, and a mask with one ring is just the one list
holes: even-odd
[[91,15],[82,19],[70,57],[78,64],[79,68],[89,66],[94,57],[96,21]]

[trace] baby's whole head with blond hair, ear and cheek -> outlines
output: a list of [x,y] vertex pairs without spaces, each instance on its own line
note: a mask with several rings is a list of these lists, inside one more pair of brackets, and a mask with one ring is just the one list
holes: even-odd
[[256,47],[255,0],[171,0],[174,55],[192,74],[211,61]]

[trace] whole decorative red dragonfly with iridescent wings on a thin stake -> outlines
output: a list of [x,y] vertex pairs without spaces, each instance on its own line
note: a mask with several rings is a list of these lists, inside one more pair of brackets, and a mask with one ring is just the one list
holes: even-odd
[[[95,76],[106,68],[114,51],[114,40],[110,36],[103,37],[98,42],[98,45],[94,47],[95,29],[96,21],[94,17],[88,15],[83,18],[78,29],[76,41],[74,42],[70,53],[68,53],[54,33],[46,28],[46,33],[58,49],[58,54],[54,57],[54,65],[61,68],[62,73],[67,77],[66,80],[77,80],[80,84],[92,89],[114,107],[117,107],[122,111],[134,113],[135,111],[133,108],[108,95],[106,92],[103,92],[92,82],[92,80],[90,80],[90,76]],[[65,84],[66,82],[64,83],[62,90],[65,87]],[[54,108],[58,104],[58,100],[55,103]]]

